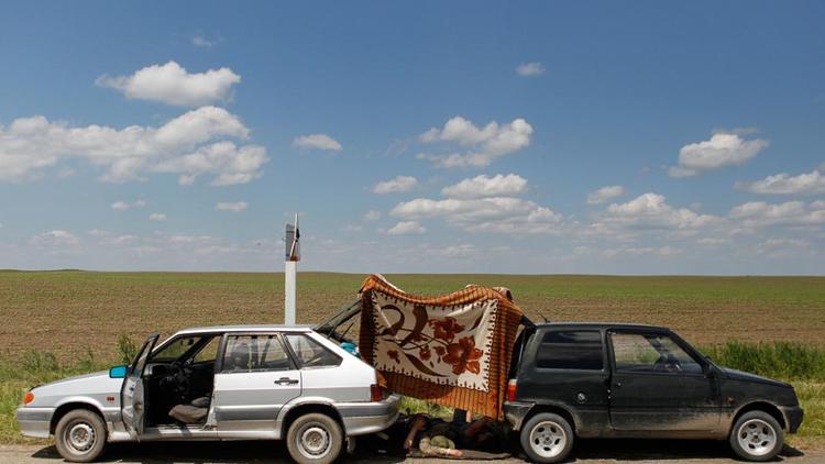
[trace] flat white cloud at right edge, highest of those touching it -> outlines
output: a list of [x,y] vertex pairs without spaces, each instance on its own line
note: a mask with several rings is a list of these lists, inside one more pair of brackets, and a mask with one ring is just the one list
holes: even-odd
[[820,225],[825,224],[825,205],[814,201],[805,205],[802,201],[767,203],[749,201],[733,208],[729,218],[741,221],[747,228],[769,225]]

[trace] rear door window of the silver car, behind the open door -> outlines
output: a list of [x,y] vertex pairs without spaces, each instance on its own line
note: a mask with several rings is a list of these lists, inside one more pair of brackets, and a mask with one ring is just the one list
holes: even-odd
[[276,334],[230,335],[222,372],[289,371],[293,364]]

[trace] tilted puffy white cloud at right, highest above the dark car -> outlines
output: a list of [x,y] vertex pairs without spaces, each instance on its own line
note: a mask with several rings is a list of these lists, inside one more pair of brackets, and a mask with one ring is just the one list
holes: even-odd
[[690,177],[705,170],[740,165],[768,146],[761,139],[745,140],[739,133],[718,132],[711,140],[691,143],[679,151],[679,164],[671,166],[671,177]]

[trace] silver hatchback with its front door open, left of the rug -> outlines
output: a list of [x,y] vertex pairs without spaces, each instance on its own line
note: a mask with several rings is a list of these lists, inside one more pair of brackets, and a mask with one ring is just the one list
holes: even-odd
[[286,439],[297,462],[329,463],[348,437],[381,431],[398,395],[373,367],[309,327],[188,329],[131,365],[32,388],[24,435],[54,434],[61,455],[92,462],[107,442]]

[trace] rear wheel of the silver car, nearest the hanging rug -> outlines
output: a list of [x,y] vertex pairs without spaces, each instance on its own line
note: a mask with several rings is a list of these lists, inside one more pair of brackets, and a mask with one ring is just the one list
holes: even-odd
[[286,433],[286,448],[297,463],[332,463],[341,455],[343,442],[341,426],[331,417],[319,412],[295,419]]

